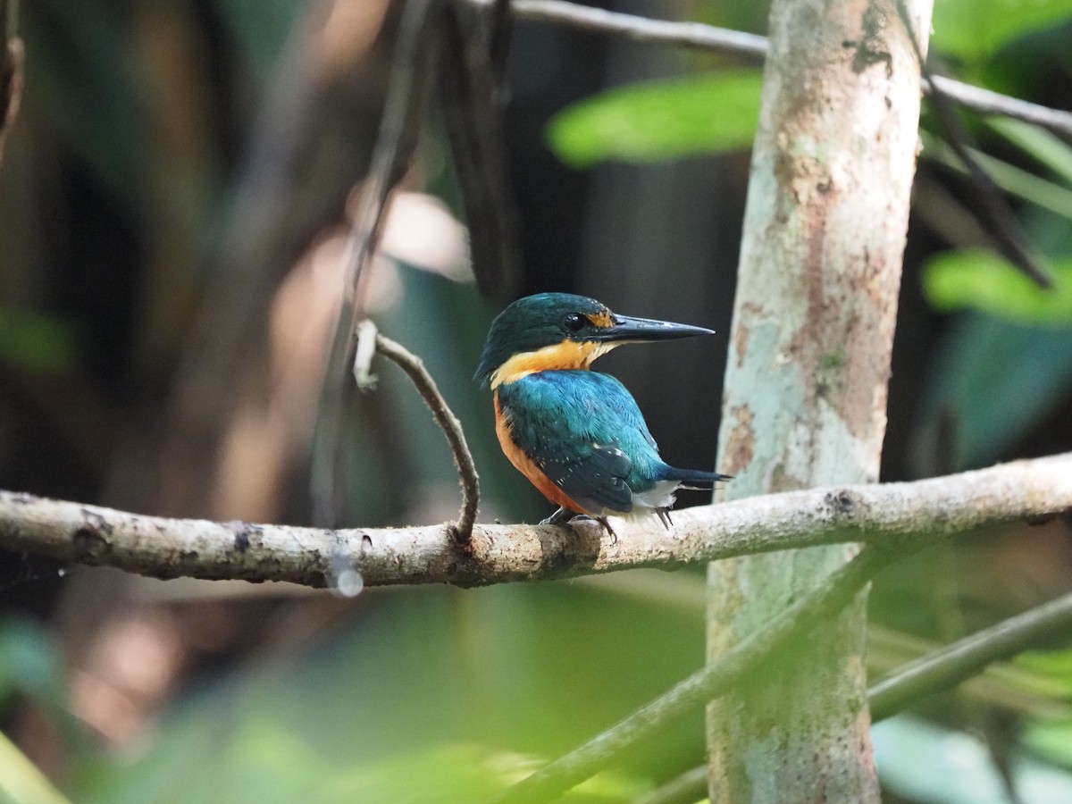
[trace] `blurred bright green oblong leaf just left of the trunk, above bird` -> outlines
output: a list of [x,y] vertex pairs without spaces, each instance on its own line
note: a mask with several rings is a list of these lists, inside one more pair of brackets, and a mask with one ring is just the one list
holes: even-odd
[[560,111],[547,138],[572,167],[748,148],[762,84],[760,70],[732,70],[610,89]]

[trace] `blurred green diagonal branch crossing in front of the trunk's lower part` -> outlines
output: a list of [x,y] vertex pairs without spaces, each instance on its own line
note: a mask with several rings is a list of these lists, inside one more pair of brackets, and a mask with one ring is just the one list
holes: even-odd
[[817,579],[817,589],[654,701],[584,745],[525,777],[500,802],[551,801],[595,775],[624,749],[661,729],[672,718],[726,695],[789,640],[805,638],[819,621],[844,609],[897,553],[870,546],[852,561]]

